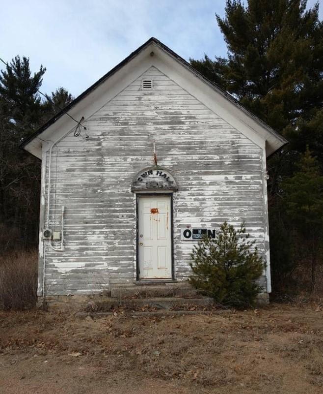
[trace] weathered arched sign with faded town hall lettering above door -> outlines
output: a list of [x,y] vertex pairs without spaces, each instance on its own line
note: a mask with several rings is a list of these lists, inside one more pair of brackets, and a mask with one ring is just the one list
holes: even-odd
[[132,191],[176,191],[177,183],[167,169],[153,166],[144,168],[135,175],[131,189]]

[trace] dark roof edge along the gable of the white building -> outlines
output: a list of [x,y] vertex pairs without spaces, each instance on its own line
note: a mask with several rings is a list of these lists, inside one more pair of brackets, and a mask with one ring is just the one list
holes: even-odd
[[[208,80],[207,78],[205,78],[200,72],[195,70],[188,63],[188,61],[181,58],[174,51],[172,51],[170,48],[168,48],[166,45],[164,45],[161,41],[159,41],[157,38],[151,37],[144,44],[142,44],[139,48],[137,48],[134,52],[132,52],[126,59],[124,59],[119,64],[117,64],[115,67],[113,67],[107,74],[105,74],[103,77],[101,77],[92,86],[90,86],[88,89],[83,91],[70,104],[68,104],[63,110],[59,111],[53,118],[51,118],[49,121],[47,121],[36,132],[32,133],[30,136],[25,138],[20,145],[21,148],[26,149],[28,152],[30,152],[40,158],[41,153],[36,154],[36,152],[35,152],[36,145],[33,143],[35,141],[35,139],[38,140],[38,143],[39,143],[38,146],[39,146],[39,148],[41,148],[42,139],[40,138],[40,136],[46,130],[48,130],[56,121],[61,119],[63,117],[63,115],[66,114],[66,112],[70,112],[71,110],[73,110],[77,106],[77,104],[79,104],[90,93],[92,93],[93,91],[98,89],[109,78],[111,78],[113,75],[115,75],[119,70],[121,70],[124,66],[126,66],[129,62],[131,62],[133,59],[135,59],[141,52],[143,52],[145,49],[147,49],[150,46],[154,46],[156,49],[160,49],[161,51],[166,53],[168,56],[173,58],[175,61],[182,64],[182,66],[184,66],[186,69],[188,69],[192,74],[194,74],[203,83],[207,84],[209,87],[211,87],[214,91],[219,93],[226,100],[228,100],[229,102],[234,104],[235,107],[237,109],[239,109],[242,112],[242,114],[244,114],[244,119],[242,119],[242,122],[244,122],[245,124],[247,124],[249,127],[251,127],[254,130],[255,130],[254,124],[256,124],[258,127],[255,131],[258,132],[258,134],[260,134],[261,137],[263,137],[263,139],[266,141],[266,151],[267,151],[268,156],[288,143],[288,141],[284,137],[282,137],[279,133],[277,133],[274,129],[272,129],[268,124],[266,124],[264,121],[260,120],[258,117],[256,117],[254,114],[252,114],[249,110],[244,108],[241,105],[241,103],[238,100],[236,100],[232,95],[230,95],[226,91],[223,91],[215,83],[213,83],[210,80]],[[248,120],[254,124],[250,125],[249,124],[250,122],[248,122]]]

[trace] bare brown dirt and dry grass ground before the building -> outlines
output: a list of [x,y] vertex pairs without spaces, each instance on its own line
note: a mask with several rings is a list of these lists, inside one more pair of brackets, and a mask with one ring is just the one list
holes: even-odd
[[2,394],[323,392],[323,310],[0,312]]

